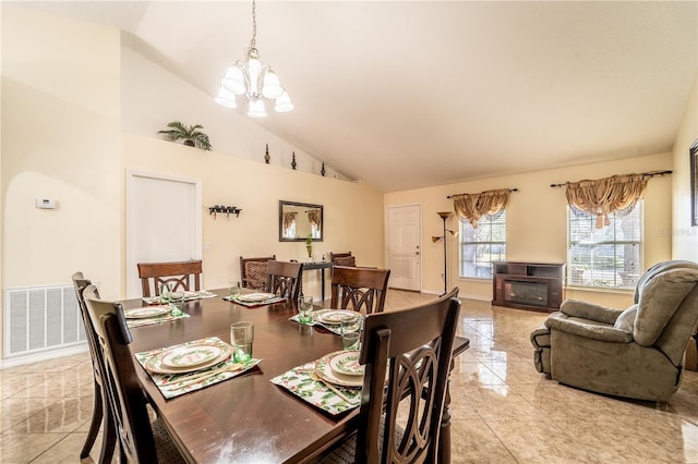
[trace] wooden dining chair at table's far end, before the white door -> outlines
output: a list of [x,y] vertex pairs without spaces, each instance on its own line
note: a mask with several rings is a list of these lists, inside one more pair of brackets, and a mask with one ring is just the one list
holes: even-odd
[[[172,283],[172,290],[201,290],[203,266],[201,259],[171,262],[139,262],[139,278],[143,286],[143,296],[158,296],[160,285]],[[193,281],[193,289],[192,289]],[[154,292],[151,292],[153,284]]]

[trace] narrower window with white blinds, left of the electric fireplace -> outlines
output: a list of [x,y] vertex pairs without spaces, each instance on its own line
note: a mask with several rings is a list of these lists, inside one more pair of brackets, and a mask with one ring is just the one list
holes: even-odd
[[478,229],[460,221],[460,277],[492,279],[492,261],[506,259],[506,211],[483,216]]

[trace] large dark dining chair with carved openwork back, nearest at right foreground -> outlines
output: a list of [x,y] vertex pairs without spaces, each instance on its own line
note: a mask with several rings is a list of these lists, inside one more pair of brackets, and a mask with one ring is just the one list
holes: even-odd
[[460,310],[457,296],[456,288],[421,306],[366,316],[358,432],[320,462],[436,462]]

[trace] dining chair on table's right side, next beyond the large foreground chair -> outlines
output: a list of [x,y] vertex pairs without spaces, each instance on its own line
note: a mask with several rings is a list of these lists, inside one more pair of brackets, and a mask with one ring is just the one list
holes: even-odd
[[329,307],[383,313],[389,277],[389,269],[333,267]]

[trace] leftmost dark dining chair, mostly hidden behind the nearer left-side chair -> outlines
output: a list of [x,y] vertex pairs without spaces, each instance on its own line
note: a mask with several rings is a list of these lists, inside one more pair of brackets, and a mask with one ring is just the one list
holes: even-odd
[[[85,335],[87,338],[87,345],[89,347],[89,357],[92,359],[93,377],[95,379],[95,404],[92,411],[92,420],[89,423],[89,430],[87,431],[87,438],[80,451],[80,457],[84,459],[89,455],[92,447],[95,444],[99,427],[101,426],[101,449],[99,451],[99,463],[109,463],[113,455],[115,445],[117,443],[117,434],[113,427],[113,420],[111,419],[111,410],[109,408],[109,402],[107,400],[107,393],[105,390],[105,366],[101,358],[101,351],[97,342],[97,334],[92,326],[89,315],[87,314],[87,307],[85,306],[85,298],[83,292],[92,282],[85,279],[82,272],[75,272],[72,276],[73,288],[75,289],[75,296],[77,298],[77,306],[80,307],[80,315],[83,319],[83,327],[85,328]],[[99,294],[95,289],[94,297],[98,298]]]

